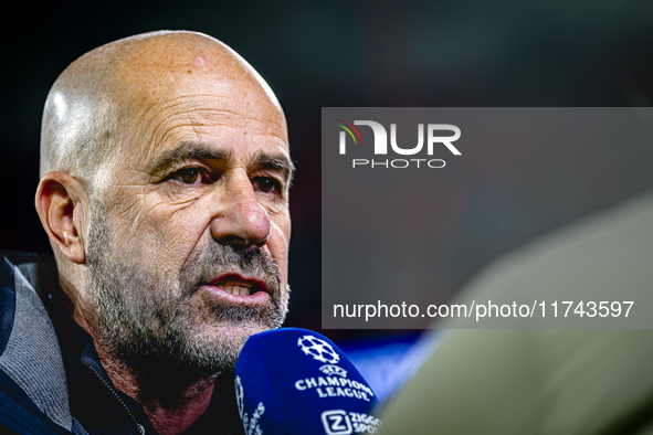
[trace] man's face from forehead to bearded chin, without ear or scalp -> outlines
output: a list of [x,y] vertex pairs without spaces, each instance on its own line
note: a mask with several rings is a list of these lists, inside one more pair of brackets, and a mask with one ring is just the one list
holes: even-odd
[[201,67],[131,100],[92,200],[92,328],[114,352],[214,372],[287,309],[285,119],[251,79]]

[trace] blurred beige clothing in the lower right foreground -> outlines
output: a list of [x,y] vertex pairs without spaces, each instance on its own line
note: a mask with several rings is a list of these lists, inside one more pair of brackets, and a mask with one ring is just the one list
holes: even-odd
[[[619,286],[653,294],[652,277],[647,194],[497,261],[462,301],[533,288],[619,300]],[[386,410],[382,435],[653,434],[653,330],[452,329]]]

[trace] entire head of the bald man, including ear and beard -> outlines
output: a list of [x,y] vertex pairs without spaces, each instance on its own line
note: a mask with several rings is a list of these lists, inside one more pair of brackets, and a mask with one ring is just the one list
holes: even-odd
[[292,172],[278,102],[219,41],[80,57],[48,96],[36,192],[75,320],[130,364],[232,365],[285,317]]

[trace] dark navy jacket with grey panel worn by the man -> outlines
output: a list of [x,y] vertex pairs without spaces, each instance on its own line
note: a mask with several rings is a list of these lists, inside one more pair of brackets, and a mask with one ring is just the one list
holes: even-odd
[[[114,386],[91,336],[61,309],[61,291],[53,258],[0,254],[0,432],[157,434]],[[243,433],[233,375],[218,379],[209,409],[185,435]]]

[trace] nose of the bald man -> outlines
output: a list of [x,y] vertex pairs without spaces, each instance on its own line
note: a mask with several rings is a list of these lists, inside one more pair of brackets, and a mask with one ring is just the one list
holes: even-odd
[[270,216],[247,177],[230,178],[219,201],[221,212],[211,221],[211,234],[218,243],[247,248],[267,242]]

